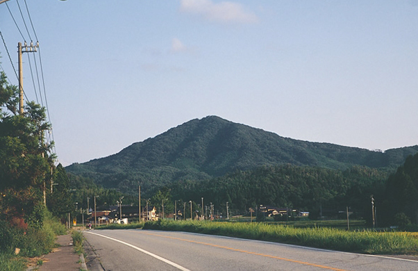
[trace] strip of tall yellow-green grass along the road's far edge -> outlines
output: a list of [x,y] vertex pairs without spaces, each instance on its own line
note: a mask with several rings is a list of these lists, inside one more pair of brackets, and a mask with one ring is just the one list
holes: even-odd
[[409,233],[344,231],[331,228],[297,229],[264,223],[158,220],[143,229],[190,231],[365,254],[417,254],[418,239]]

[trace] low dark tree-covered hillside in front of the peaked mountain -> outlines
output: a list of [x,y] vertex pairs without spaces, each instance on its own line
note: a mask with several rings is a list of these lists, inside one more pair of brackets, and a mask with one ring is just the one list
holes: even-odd
[[[317,217],[333,216],[346,206],[358,215],[369,215],[370,195],[381,201],[387,172],[354,166],[348,170],[295,165],[262,166],[253,170],[236,170],[201,182],[178,181],[172,186],[174,199],[215,204],[226,212],[245,214],[260,204],[309,211]],[[326,213],[328,212],[328,213]]]

